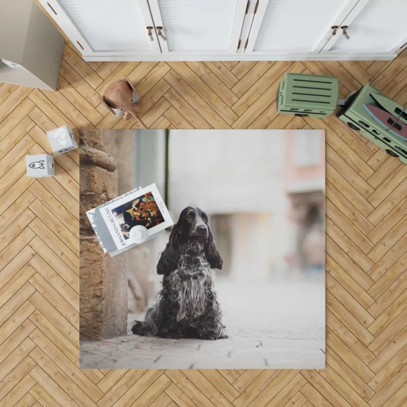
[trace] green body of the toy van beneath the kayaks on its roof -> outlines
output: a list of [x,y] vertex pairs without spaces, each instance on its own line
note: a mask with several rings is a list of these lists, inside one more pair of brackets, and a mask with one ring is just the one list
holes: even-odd
[[376,146],[385,149],[389,155],[398,157],[402,163],[407,164],[407,141],[387,131],[363,107],[364,103],[380,107],[370,97],[371,93],[387,98],[382,92],[367,84],[360,91],[346,99],[345,105],[340,106],[337,110],[336,117],[345,122],[351,129],[360,130],[363,136],[375,143]]

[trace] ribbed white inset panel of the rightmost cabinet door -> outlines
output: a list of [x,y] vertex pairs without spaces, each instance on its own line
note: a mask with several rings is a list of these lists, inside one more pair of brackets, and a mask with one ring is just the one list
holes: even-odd
[[407,32],[407,0],[370,0],[331,51],[387,51]]

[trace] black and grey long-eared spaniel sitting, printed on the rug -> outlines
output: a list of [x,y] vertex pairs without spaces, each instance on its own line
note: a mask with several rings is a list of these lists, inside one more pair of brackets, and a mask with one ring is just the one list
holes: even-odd
[[227,338],[214,292],[215,269],[222,258],[213,242],[208,217],[199,208],[185,208],[161,253],[157,273],[162,290],[133,334],[162,338]]

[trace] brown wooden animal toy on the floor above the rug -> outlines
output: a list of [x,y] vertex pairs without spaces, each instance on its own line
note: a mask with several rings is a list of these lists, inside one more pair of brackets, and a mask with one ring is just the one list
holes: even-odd
[[121,117],[123,115],[125,120],[129,120],[133,116],[144,129],[147,129],[147,126],[137,114],[137,111],[140,110],[140,105],[138,104],[140,96],[127,76],[124,79],[115,80],[110,83],[101,100],[115,116]]

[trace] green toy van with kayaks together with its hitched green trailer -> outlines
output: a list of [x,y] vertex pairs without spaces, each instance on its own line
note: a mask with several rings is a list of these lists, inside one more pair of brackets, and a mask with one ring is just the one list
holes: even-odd
[[[319,118],[329,116],[339,105],[335,113],[338,119],[407,164],[407,109],[370,84],[339,100],[339,80],[335,76],[286,73],[278,86],[276,103],[281,114]],[[380,122],[372,116],[372,110],[386,113],[388,121]]]

